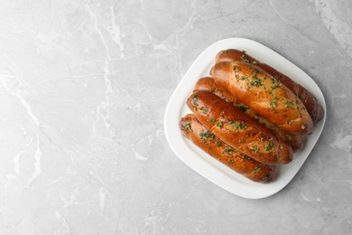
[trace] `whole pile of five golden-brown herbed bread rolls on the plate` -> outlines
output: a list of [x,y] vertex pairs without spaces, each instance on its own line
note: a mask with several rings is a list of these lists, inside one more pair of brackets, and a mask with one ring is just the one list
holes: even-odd
[[324,118],[310,91],[244,51],[218,52],[181,118],[183,136],[246,178],[270,183]]

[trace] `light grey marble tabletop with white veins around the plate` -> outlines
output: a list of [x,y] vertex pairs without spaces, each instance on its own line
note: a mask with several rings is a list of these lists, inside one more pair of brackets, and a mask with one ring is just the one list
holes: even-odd
[[[2,1],[0,234],[351,234],[352,2]],[[200,52],[245,37],[317,82],[327,122],[263,200],[174,155],[163,115]]]

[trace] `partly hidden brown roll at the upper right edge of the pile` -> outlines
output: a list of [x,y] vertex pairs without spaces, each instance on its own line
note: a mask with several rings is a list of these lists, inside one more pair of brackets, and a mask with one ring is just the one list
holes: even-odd
[[310,91],[280,71],[276,71],[270,65],[261,61],[257,61],[255,58],[249,56],[245,52],[238,51],[236,49],[228,49],[218,52],[216,56],[216,62],[220,61],[245,61],[257,65],[264,71],[267,71],[269,74],[271,74],[277,80],[280,80],[283,85],[285,85],[288,89],[291,89],[292,92],[301,99],[304,106],[307,108],[313,123],[319,122],[324,117],[324,109],[320,106],[318,99],[316,99],[310,93]]

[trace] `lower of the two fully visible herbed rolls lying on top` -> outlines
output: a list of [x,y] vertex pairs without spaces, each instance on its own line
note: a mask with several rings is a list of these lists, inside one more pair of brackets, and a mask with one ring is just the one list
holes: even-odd
[[245,155],[264,164],[288,164],[292,161],[291,146],[212,92],[195,91],[187,105],[209,131]]

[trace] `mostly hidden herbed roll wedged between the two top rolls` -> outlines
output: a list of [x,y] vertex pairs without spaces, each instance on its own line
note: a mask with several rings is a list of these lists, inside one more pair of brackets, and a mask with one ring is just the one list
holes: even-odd
[[245,112],[245,114],[248,115],[249,117],[255,118],[255,120],[258,121],[259,123],[261,123],[262,125],[264,125],[264,127],[268,127],[269,129],[273,130],[273,132],[276,134],[276,136],[281,138],[285,143],[292,146],[293,152],[297,152],[303,146],[302,136],[293,135],[292,133],[289,133],[289,132],[283,130],[282,128],[278,127],[277,125],[273,124],[272,122],[259,116],[258,114],[255,113],[255,111],[253,109],[245,106],[244,103],[238,101],[236,99],[236,96],[234,96],[227,89],[224,89],[224,88],[218,86],[218,84],[215,83],[215,80],[213,78],[210,78],[210,77],[200,78],[197,81],[194,89],[195,90],[211,91],[215,95],[220,97],[221,99],[226,100],[227,102],[231,103],[236,108]]

